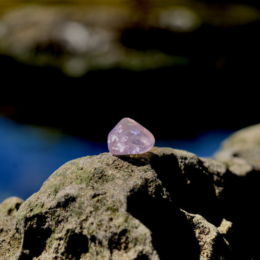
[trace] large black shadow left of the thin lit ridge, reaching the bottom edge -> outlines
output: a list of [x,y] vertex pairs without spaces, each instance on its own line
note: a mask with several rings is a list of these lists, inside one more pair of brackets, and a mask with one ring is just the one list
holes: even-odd
[[146,187],[128,197],[127,211],[152,232],[160,260],[200,259],[200,246],[192,227],[170,200],[150,196]]

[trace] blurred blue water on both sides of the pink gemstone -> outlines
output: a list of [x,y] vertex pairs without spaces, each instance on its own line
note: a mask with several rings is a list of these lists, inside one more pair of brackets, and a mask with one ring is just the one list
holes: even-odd
[[[230,134],[215,130],[190,140],[157,140],[156,146],[210,157]],[[0,116],[0,202],[10,196],[26,200],[68,160],[103,152],[108,152],[106,142],[85,140]]]

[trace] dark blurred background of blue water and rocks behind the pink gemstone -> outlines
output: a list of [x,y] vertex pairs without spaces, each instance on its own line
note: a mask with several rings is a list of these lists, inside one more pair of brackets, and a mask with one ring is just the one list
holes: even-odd
[[124,117],[210,157],[259,123],[256,0],[0,0],[0,201],[107,152]]

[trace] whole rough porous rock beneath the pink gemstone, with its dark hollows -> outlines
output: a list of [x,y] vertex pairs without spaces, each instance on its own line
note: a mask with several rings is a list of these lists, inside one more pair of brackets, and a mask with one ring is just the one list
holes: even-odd
[[258,169],[227,162],[158,147],[71,160],[9,222],[18,204],[0,205],[0,260],[259,259]]

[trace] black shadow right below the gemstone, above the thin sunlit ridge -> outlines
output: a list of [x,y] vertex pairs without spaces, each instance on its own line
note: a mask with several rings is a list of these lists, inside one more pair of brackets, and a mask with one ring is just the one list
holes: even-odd
[[199,214],[215,225],[221,223],[213,176],[206,174],[202,161],[199,160],[198,165],[187,163],[180,168],[174,155],[164,155],[152,157],[150,163],[176,206]]

